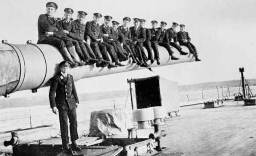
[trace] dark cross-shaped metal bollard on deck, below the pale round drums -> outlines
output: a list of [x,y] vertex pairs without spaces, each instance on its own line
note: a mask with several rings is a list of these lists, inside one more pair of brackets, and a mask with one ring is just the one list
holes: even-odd
[[156,140],[157,146],[156,146],[155,150],[157,150],[157,151],[162,151],[162,149],[163,149],[160,144],[160,140],[163,136],[166,136],[166,131],[161,130],[160,124],[154,124],[154,133],[150,133],[148,137],[150,139]]

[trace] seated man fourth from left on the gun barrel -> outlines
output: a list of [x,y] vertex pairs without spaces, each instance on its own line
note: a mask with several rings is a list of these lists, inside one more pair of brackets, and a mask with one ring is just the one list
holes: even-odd
[[85,32],[86,35],[89,37],[87,38],[87,43],[91,46],[91,48],[94,51],[98,51],[98,49],[102,53],[102,57],[104,60],[109,61],[108,68],[117,67],[117,65],[114,65],[110,62],[110,59],[108,57],[108,53],[111,56],[112,62],[117,62],[117,56],[115,53],[115,50],[113,49],[112,45],[109,45],[108,43],[103,42],[100,26],[99,26],[99,20],[101,19],[102,14],[94,13],[93,14],[93,21],[87,22],[85,25]]

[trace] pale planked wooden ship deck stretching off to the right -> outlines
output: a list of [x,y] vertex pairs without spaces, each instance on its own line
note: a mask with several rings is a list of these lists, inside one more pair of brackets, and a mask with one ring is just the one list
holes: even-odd
[[[179,116],[166,120],[161,130],[167,136],[161,145],[167,148],[158,156],[256,156],[256,105],[225,101],[223,107],[203,108],[204,104],[180,107]],[[139,138],[153,132],[153,127],[137,130]],[[61,139],[48,143],[61,144]]]

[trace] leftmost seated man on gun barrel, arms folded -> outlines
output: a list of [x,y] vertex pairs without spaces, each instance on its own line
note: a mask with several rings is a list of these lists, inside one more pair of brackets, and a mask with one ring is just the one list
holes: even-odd
[[[58,9],[58,5],[54,2],[48,2],[46,4],[46,14],[41,14],[38,17],[38,44],[49,44],[58,48],[63,55],[64,59],[71,62],[71,67],[75,68],[78,63],[74,62],[69,51],[61,37],[63,31],[59,26],[57,20],[53,18],[53,14]],[[73,45],[72,42],[69,42]]]

